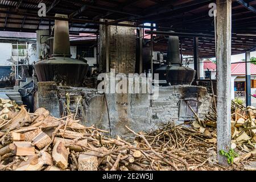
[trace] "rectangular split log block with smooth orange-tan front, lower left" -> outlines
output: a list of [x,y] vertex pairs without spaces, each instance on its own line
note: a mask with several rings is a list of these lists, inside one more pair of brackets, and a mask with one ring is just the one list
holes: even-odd
[[31,142],[14,142],[15,150],[14,154],[17,156],[27,156],[35,154],[35,147]]

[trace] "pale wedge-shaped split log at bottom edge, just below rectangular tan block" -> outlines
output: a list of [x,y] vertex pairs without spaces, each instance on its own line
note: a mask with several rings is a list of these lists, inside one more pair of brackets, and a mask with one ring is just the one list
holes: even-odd
[[37,155],[30,155],[28,156],[28,160],[20,163],[15,171],[40,171],[43,165],[43,160]]

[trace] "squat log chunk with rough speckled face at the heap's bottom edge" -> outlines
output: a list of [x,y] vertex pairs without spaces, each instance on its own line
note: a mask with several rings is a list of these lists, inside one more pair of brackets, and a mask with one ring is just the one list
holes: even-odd
[[79,171],[97,171],[98,158],[96,156],[79,155]]

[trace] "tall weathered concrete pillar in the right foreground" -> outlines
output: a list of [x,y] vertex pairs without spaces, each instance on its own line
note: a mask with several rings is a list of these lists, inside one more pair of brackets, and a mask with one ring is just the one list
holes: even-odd
[[220,150],[228,152],[231,145],[231,28],[232,0],[217,0],[217,154],[224,166]]

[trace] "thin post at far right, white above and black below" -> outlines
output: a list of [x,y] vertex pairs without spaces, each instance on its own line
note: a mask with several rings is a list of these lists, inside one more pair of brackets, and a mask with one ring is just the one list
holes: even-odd
[[246,106],[251,106],[251,56],[250,51],[245,53],[246,60]]

